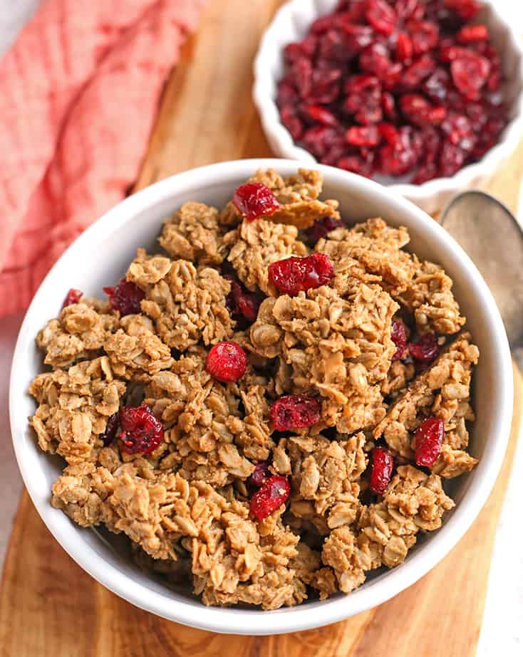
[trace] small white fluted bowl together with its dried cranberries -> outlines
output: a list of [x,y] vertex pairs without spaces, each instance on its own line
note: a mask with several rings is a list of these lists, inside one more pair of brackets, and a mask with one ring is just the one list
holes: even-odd
[[494,1],[292,0],[254,73],[277,155],[373,178],[429,213],[490,179],[523,135],[523,38]]

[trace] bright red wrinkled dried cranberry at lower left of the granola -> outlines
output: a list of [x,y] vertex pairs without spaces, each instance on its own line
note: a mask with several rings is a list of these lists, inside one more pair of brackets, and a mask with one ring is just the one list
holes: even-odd
[[163,427],[148,406],[124,406],[120,409],[122,449],[128,454],[150,454],[163,440]]

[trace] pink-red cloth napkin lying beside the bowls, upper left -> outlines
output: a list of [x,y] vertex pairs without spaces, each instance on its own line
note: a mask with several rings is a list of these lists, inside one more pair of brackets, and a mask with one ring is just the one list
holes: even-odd
[[0,62],[0,317],[135,181],[203,4],[45,0]]

